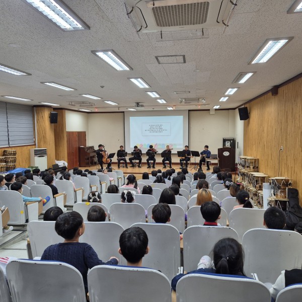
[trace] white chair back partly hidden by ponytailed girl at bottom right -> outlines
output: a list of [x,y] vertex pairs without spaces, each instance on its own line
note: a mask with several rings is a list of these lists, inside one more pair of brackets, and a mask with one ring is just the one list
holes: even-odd
[[222,238],[230,237],[238,241],[235,230],[226,226],[190,226],[184,232],[184,270],[196,269],[201,256],[210,255],[215,243]]

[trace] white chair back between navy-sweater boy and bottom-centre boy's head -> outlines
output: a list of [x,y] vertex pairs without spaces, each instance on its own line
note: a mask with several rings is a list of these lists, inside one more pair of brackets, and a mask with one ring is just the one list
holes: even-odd
[[[118,253],[119,237],[124,232],[123,227],[116,222],[85,222],[85,232],[80,237],[80,242],[90,244],[98,254],[99,259],[109,260],[111,256],[119,259],[123,257]],[[126,262],[124,262],[126,264]]]

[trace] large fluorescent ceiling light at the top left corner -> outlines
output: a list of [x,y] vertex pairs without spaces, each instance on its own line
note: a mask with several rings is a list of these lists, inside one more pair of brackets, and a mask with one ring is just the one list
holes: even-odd
[[63,31],[84,30],[90,27],[60,0],[23,0],[50,19]]

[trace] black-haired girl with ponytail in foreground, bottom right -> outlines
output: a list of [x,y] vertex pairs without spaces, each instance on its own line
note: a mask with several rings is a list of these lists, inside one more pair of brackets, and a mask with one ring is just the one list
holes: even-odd
[[[223,275],[237,275],[242,278],[248,278],[243,270],[243,249],[241,244],[235,239],[220,239],[214,245],[213,260],[215,268],[210,267],[210,257],[203,256],[198,264],[198,269],[188,272],[187,274],[216,273]],[[176,275],[171,282],[172,289],[176,290],[178,280],[187,274]]]

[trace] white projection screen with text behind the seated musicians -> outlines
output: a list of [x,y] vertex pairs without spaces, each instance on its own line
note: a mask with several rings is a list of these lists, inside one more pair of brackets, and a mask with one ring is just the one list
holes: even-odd
[[176,154],[189,142],[188,124],[187,110],[125,112],[125,149],[144,153],[152,144],[161,153],[169,145]]

